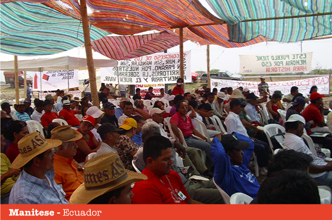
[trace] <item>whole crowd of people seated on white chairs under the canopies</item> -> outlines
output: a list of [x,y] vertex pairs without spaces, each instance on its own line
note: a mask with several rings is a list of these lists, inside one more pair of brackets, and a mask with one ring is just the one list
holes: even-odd
[[[95,106],[89,92],[81,99],[63,91],[35,99],[34,108],[29,99],[19,102],[16,113],[10,103],[2,103],[1,203],[225,203],[217,185],[229,196],[241,192],[259,204],[313,204],[320,202],[317,185],[332,187],[332,163],[320,148],[313,154],[302,138],[304,132],[309,137],[323,133],[312,136],[313,142],[332,150],[328,128],[332,114],[317,87],[313,86],[309,98],[296,86],[285,97],[281,91],[271,91],[268,97],[264,77],[259,93],[242,87],[211,92],[206,86],[191,93],[183,91],[183,79],[177,81],[167,94],[163,89],[156,95],[150,87],[144,96],[137,88],[133,98],[111,94],[105,86]],[[264,108],[274,120],[262,120]],[[286,109],[285,121],[278,109]],[[57,118],[68,125],[53,122]],[[41,123],[40,133],[29,134],[26,121],[31,119]],[[286,130],[285,150],[276,155],[264,132],[266,123],[281,124]],[[281,158],[286,151],[297,153]],[[276,158],[287,161],[280,164]],[[262,187],[253,160],[266,179]],[[303,161],[307,169],[295,167],[291,160]],[[110,178],[98,185],[104,190],[95,190],[96,183],[84,176],[104,169]],[[109,184],[112,181],[119,187]],[[300,198],[287,183],[302,184],[311,195]],[[287,200],[287,194],[293,200]]]

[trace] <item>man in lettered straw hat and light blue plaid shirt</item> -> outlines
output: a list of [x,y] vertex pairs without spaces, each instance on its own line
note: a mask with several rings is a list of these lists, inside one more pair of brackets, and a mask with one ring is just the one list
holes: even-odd
[[45,139],[40,133],[26,135],[18,142],[20,154],[12,168],[23,167],[12,188],[9,204],[68,204],[61,186],[54,181],[54,151],[60,140]]

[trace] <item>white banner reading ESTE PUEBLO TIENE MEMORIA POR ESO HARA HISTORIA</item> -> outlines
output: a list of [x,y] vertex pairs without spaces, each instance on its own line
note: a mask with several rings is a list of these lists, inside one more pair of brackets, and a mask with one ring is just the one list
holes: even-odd
[[312,52],[298,54],[240,55],[240,74],[311,71]]

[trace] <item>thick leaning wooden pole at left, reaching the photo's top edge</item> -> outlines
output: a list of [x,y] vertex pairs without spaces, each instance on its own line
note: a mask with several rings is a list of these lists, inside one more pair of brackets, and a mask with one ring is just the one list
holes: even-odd
[[94,68],[93,57],[92,57],[92,46],[90,39],[90,29],[89,29],[89,20],[87,13],[87,4],[86,0],[81,0],[81,16],[82,16],[82,26],[84,33],[84,45],[85,53],[87,55],[87,65],[89,71],[89,81],[91,87],[91,98],[94,106],[99,108],[98,92],[97,92],[97,82],[96,82],[96,70]]

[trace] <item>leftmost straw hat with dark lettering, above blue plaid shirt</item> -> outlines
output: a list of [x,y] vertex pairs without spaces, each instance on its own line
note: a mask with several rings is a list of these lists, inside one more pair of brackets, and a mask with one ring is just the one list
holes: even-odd
[[60,140],[45,139],[39,132],[28,134],[17,143],[20,154],[13,161],[12,168],[21,168],[35,156],[61,144]]

